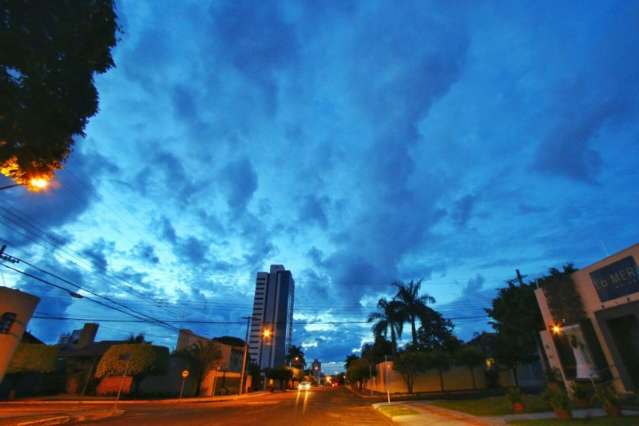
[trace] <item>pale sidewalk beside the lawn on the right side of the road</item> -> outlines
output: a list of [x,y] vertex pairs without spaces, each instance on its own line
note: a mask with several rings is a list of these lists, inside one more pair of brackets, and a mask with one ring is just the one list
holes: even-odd
[[[503,426],[514,420],[554,419],[552,411],[540,413],[511,414],[506,416],[478,417],[461,411],[449,410],[429,404],[427,401],[403,401],[373,404],[373,408],[394,423],[417,426]],[[573,410],[574,418],[604,417],[606,413],[600,408]],[[624,416],[639,416],[639,411],[623,410]],[[639,419],[638,419],[639,420]]]

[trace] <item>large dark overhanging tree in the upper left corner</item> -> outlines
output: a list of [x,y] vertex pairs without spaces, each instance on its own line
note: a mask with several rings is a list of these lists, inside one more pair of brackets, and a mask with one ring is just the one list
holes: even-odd
[[0,171],[50,176],[98,110],[93,76],[114,66],[113,0],[0,5]]

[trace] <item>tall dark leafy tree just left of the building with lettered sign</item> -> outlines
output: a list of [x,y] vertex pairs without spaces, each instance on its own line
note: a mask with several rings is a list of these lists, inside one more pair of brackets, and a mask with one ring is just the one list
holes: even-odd
[[530,284],[508,281],[486,312],[493,318],[491,325],[497,331],[497,361],[513,370],[515,384],[519,386],[517,365],[536,359],[538,333],[544,328],[535,289]]

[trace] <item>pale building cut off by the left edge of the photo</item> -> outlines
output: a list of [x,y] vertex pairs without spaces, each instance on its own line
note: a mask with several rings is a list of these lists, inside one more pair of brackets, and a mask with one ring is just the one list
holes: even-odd
[[0,287],[0,382],[39,301],[29,293]]

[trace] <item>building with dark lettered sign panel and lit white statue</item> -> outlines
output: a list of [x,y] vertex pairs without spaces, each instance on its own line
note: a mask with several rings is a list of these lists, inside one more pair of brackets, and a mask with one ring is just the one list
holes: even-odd
[[638,262],[635,244],[572,273],[585,314],[572,324],[553,318],[552,296],[535,290],[546,324],[540,332],[544,351],[565,383],[612,380],[621,393],[639,389]]

